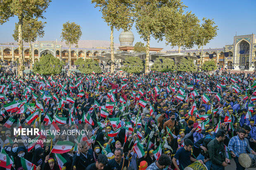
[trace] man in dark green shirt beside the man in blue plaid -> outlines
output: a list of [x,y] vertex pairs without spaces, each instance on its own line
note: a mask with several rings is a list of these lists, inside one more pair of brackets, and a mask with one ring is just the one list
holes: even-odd
[[226,156],[223,144],[225,137],[225,131],[219,130],[216,134],[216,138],[211,140],[211,142],[209,142],[207,145],[213,170],[224,170],[225,166],[230,164],[230,160]]

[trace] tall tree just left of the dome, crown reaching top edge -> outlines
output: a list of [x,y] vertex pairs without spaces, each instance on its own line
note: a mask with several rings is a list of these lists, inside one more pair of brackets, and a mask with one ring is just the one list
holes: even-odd
[[114,73],[114,28],[130,30],[133,25],[133,0],[92,0],[100,7],[102,18],[110,26],[111,73]]

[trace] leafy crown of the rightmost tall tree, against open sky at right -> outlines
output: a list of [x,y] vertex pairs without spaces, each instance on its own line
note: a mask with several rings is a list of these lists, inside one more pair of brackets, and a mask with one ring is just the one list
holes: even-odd
[[211,39],[216,37],[218,26],[211,19],[202,19],[203,23],[197,28],[195,44],[205,46]]

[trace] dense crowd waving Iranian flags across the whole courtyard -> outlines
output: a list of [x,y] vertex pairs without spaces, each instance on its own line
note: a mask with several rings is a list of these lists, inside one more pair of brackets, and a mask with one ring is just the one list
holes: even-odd
[[244,170],[239,155],[256,154],[255,82],[255,72],[2,71],[0,170],[223,170],[231,159]]

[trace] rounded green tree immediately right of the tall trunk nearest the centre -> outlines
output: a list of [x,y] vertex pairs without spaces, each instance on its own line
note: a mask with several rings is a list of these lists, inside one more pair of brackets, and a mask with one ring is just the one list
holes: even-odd
[[[163,63],[159,59],[163,60]],[[175,67],[172,59],[159,56],[150,69],[152,71],[166,72],[174,71]]]

